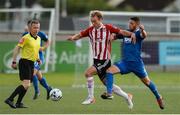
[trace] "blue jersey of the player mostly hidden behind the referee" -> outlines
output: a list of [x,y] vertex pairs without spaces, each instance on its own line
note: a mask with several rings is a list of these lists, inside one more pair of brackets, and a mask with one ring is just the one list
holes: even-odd
[[[28,34],[28,32],[24,32],[22,36],[26,34]],[[37,35],[41,38],[41,46],[43,45],[43,42],[48,41],[48,36],[44,32],[39,31]],[[44,54],[42,51],[39,51],[39,58],[42,61],[42,63],[44,63]]]

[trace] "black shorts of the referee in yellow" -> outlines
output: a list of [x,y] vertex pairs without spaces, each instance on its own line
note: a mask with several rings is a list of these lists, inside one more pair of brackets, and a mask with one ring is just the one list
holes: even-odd
[[19,77],[20,80],[31,80],[33,78],[34,62],[27,59],[19,60]]

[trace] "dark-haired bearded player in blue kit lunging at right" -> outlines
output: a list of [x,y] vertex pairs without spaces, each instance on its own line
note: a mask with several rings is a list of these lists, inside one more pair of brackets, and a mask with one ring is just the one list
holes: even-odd
[[106,88],[107,93],[101,95],[103,99],[112,99],[113,75],[117,73],[128,74],[130,72],[138,76],[141,81],[155,95],[159,107],[164,109],[162,96],[159,94],[156,85],[150,80],[143,60],[141,58],[142,42],[146,38],[147,33],[144,26],[140,24],[138,17],[132,17],[129,20],[129,31],[134,32],[136,39],[127,36],[115,35],[115,38],[123,39],[123,59],[116,62],[106,71]]

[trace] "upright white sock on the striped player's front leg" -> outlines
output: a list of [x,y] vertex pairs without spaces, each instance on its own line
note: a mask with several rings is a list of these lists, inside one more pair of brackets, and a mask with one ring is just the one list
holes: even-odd
[[94,98],[94,79],[93,77],[87,78],[88,97]]

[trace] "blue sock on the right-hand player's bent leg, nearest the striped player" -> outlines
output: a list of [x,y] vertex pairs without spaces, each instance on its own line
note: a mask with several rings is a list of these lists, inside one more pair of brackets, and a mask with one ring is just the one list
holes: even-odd
[[107,93],[112,94],[112,88],[113,88],[113,74],[112,73],[106,73],[106,88],[107,88]]

